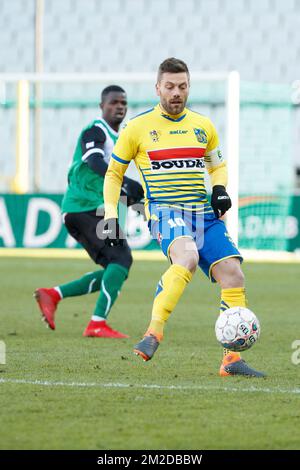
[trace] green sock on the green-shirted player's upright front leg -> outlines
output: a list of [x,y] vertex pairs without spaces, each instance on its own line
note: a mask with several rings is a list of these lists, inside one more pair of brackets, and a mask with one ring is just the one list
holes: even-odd
[[107,266],[102,277],[100,295],[93,315],[103,319],[107,318],[127,276],[128,269],[124,266],[114,263]]

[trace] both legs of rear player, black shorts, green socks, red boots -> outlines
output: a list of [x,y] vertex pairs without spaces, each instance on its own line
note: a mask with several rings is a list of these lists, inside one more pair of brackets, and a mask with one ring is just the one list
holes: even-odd
[[37,289],[35,296],[42,316],[50,328],[55,329],[54,316],[57,304],[62,298],[100,291],[91,322],[84,335],[127,337],[112,330],[106,319],[128,276],[132,264],[131,252],[126,244],[120,250],[113,248],[112,253],[104,253],[106,246],[97,236],[97,224],[100,220],[101,216],[97,216],[96,211],[69,213],[64,218],[70,235],[86,249],[96,264],[104,266],[105,269],[87,273],[80,279],[56,288]]

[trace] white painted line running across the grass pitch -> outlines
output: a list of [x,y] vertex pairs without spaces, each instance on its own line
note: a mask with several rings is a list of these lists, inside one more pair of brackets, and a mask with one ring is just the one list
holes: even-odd
[[[230,380],[230,378],[229,378]],[[250,380],[250,378],[248,379]],[[265,387],[219,387],[214,385],[159,385],[159,384],[124,384],[124,383],[99,383],[99,382],[51,382],[49,380],[4,379],[0,378],[0,384],[25,384],[40,385],[44,387],[74,387],[74,388],[141,388],[149,390],[199,390],[216,392],[241,392],[241,393],[290,393],[300,395],[300,388],[265,388]]]

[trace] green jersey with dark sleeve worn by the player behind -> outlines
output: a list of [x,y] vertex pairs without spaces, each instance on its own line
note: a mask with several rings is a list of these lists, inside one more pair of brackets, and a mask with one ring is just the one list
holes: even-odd
[[101,118],[83,129],[68,173],[68,187],[62,201],[63,213],[86,212],[103,206],[104,176],[90,168],[88,159],[102,158],[108,164],[117,138],[118,133]]

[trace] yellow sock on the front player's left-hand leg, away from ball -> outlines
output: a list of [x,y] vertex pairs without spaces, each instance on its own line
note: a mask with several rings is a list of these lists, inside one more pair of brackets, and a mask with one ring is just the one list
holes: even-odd
[[146,335],[152,333],[159,341],[162,340],[165,323],[191,279],[192,273],[179,264],[172,264],[163,274],[157,286]]

